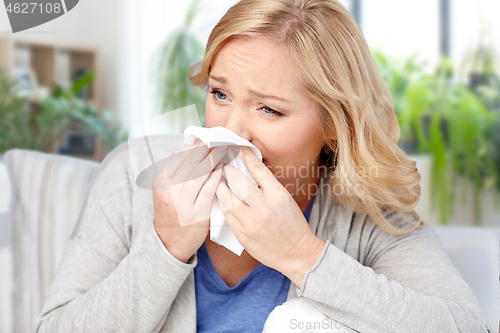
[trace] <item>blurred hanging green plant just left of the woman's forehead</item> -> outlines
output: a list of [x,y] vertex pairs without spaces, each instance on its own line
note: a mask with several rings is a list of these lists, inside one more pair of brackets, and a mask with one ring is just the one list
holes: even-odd
[[[206,92],[191,86],[189,68],[203,58],[204,48],[190,31],[200,0],[194,0],[182,27],[164,42],[152,61],[156,102],[160,113],[195,104],[201,126],[205,126]],[[175,120],[174,120],[175,121]],[[184,122],[177,119],[177,127]]]

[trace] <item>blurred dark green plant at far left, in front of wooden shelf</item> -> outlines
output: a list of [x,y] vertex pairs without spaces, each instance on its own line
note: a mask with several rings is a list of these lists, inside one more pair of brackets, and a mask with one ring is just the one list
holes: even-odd
[[113,125],[113,113],[99,110],[77,98],[95,76],[88,72],[68,89],[53,86],[50,96],[36,101],[18,97],[16,83],[4,72],[0,73],[0,152],[12,148],[49,151],[61,133],[70,125],[98,135],[108,149],[126,141],[127,135],[120,126]]

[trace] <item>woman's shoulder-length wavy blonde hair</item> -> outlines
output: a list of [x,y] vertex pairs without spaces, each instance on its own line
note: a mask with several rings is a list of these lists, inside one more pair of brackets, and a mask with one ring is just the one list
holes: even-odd
[[[359,26],[335,0],[242,0],[212,30],[204,59],[189,70],[195,87],[206,89],[211,64],[231,38],[262,36],[282,46],[296,66],[304,93],[318,104],[325,145],[334,156],[331,196],[368,214],[383,230],[404,234],[421,227],[414,208],[420,174],[397,142],[399,124],[391,93],[377,71]],[[333,134],[336,134],[336,140]],[[376,168],[377,177],[359,170]],[[336,186],[351,191],[337,194]],[[359,195],[355,188],[364,189]],[[410,212],[411,228],[395,228],[384,211]]]

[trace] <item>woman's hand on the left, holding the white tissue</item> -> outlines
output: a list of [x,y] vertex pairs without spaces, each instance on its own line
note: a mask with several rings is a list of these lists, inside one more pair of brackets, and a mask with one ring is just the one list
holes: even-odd
[[219,162],[227,152],[227,146],[222,148],[209,151],[197,139],[172,156],[153,181],[156,232],[182,262],[187,263],[207,237],[212,201],[222,175]]

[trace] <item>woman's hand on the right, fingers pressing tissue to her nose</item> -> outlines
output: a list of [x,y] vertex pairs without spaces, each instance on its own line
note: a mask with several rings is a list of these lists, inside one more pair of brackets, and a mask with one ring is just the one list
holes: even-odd
[[291,194],[251,149],[241,147],[241,154],[259,187],[236,168],[225,165],[227,181],[246,204],[221,179],[216,192],[219,206],[245,250],[300,288],[325,242],[312,232]]

